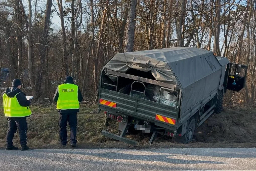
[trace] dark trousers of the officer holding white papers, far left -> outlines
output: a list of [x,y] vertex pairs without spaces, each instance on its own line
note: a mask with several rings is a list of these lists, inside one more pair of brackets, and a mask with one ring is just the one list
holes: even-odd
[[19,129],[20,145],[27,144],[28,124],[26,117],[8,117],[8,131],[6,135],[7,145],[13,145],[14,133]]

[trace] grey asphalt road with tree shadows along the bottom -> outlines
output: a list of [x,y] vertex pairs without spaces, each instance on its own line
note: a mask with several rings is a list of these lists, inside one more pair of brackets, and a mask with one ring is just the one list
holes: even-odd
[[256,149],[0,150],[0,170],[254,170]]

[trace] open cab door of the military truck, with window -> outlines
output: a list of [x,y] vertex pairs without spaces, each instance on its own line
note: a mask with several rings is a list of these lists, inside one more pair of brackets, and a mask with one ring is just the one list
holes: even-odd
[[248,66],[230,63],[226,71],[226,89],[240,91],[246,84]]

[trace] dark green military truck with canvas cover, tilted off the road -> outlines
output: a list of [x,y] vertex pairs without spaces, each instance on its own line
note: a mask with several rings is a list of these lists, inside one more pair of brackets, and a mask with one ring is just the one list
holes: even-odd
[[118,53],[101,70],[99,111],[119,122],[120,135],[102,135],[130,144],[126,133],[152,133],[188,143],[213,113],[222,111],[223,94],[240,91],[248,67],[195,47]]

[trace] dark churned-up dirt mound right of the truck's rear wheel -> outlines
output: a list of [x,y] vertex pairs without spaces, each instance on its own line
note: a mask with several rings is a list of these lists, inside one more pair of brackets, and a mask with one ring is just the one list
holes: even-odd
[[256,109],[225,107],[202,124],[194,135],[194,142],[246,143],[256,142]]

